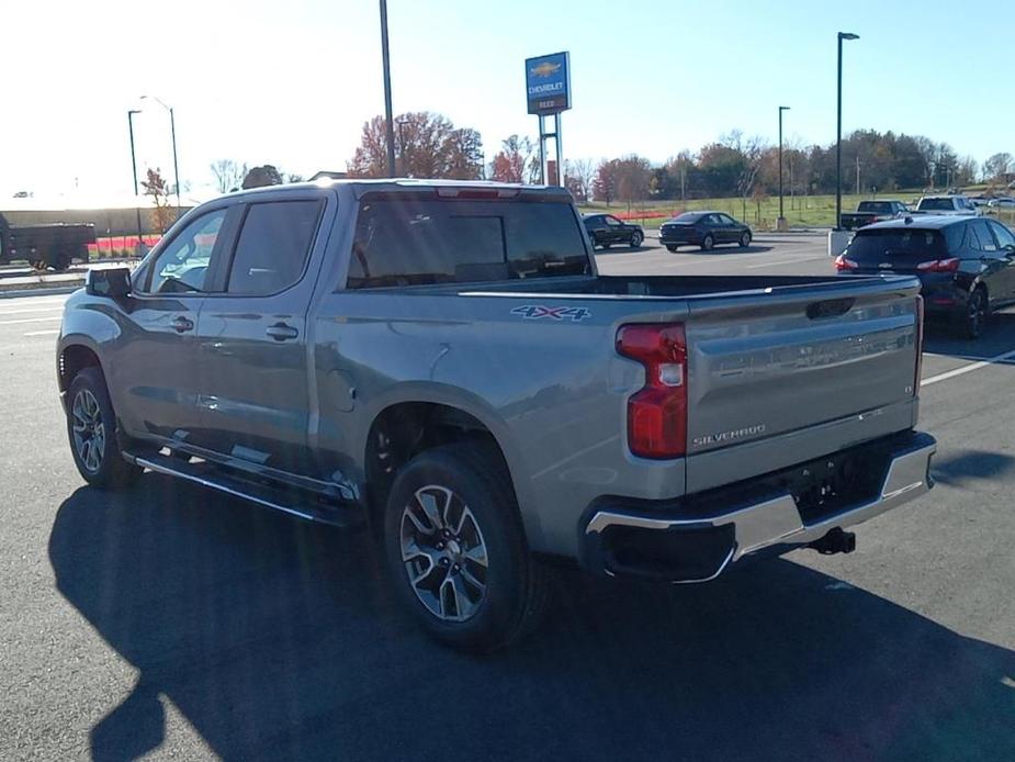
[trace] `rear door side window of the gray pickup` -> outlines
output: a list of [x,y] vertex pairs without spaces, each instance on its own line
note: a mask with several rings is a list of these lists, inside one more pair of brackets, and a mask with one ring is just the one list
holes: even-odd
[[251,204],[233,254],[226,292],[267,296],[298,281],[320,208],[320,201]]

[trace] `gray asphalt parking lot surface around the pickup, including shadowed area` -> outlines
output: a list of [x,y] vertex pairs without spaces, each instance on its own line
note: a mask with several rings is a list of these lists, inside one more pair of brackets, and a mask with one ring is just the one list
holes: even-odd
[[[826,273],[824,250],[650,238],[599,265]],[[86,488],[54,372],[65,299],[0,299],[0,759],[1015,759],[1015,315],[977,343],[929,333],[937,489],[855,553],[703,586],[561,571],[546,626],[476,659],[398,614],[365,534],[151,473]]]

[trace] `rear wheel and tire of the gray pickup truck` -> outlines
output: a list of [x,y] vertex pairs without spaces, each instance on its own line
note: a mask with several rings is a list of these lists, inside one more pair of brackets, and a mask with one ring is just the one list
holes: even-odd
[[385,554],[403,605],[431,637],[467,651],[518,639],[548,598],[498,461],[467,444],[426,450],[398,473],[385,506]]

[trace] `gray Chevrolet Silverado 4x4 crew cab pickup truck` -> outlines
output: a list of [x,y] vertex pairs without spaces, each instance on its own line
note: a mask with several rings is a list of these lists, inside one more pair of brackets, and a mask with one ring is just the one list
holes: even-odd
[[918,290],[601,276],[562,189],[295,184],[92,271],[59,389],[89,483],[370,523],[422,626],[488,649],[537,620],[545,557],[704,582],[848,552],[931,489]]

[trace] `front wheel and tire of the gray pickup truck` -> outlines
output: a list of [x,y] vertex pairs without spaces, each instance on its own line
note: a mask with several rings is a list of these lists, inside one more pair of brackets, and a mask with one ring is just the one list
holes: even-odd
[[133,483],[142,470],[123,459],[116,439],[116,415],[98,368],[84,368],[67,391],[67,438],[74,464],[92,486],[116,490]]

